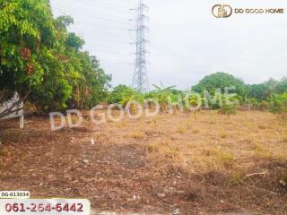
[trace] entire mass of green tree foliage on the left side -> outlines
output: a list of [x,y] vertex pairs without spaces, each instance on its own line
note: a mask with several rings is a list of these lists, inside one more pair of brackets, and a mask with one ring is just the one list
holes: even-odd
[[[53,18],[48,0],[0,0],[0,91],[17,91],[43,110],[91,107],[107,97],[111,77]],[[9,99],[11,93],[5,99]]]

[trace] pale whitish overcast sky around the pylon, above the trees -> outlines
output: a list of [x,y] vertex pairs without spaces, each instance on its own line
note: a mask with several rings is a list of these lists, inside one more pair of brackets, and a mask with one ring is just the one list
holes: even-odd
[[[224,72],[247,83],[287,76],[286,0],[143,0],[149,6],[147,65],[150,85],[187,90],[205,75]],[[137,0],[51,0],[53,13],[72,15],[70,31],[97,56],[112,85],[131,85]],[[234,8],[284,8],[283,14],[213,17],[214,4]]]

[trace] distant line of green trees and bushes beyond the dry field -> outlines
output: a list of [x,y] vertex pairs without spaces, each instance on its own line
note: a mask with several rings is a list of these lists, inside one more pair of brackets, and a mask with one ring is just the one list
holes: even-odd
[[[132,100],[143,102],[146,99],[156,99],[161,109],[165,110],[170,104],[173,107],[184,105],[187,107],[198,107],[206,104],[206,92],[211,97],[208,107],[220,109],[223,114],[234,114],[237,106],[245,106],[253,109],[271,110],[280,113],[286,118],[287,113],[287,79],[274,81],[270,79],[261,84],[248,85],[242,80],[228,73],[213,73],[205,76],[190,90],[177,90],[175,86],[165,87],[153,85],[155,90],[147,93],[140,93],[125,85],[119,85],[109,93],[109,104],[119,103],[126,106]],[[229,105],[226,97],[226,89],[229,94],[236,94],[232,97],[237,105]],[[218,93],[221,95],[219,96]],[[179,101],[178,98],[184,99]],[[231,101],[232,101],[231,100]],[[199,104],[200,103],[200,104]]]

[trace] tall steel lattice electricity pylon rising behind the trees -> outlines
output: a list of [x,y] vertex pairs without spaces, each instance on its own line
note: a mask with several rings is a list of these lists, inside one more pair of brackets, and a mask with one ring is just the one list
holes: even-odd
[[146,43],[145,39],[146,31],[149,28],[145,25],[149,17],[145,15],[148,11],[148,6],[143,4],[143,0],[138,0],[136,11],[136,52],[135,52],[135,73],[133,77],[133,87],[141,92],[147,92],[150,90],[150,84],[146,68]]

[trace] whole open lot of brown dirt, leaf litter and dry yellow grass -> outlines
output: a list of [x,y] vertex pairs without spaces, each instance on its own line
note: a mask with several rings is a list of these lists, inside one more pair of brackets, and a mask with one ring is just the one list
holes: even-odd
[[[287,125],[265,112],[162,114],[52,132],[0,122],[0,190],[83,197],[95,211],[287,214]],[[91,142],[94,140],[94,142]]]

